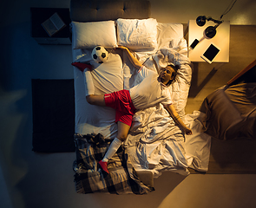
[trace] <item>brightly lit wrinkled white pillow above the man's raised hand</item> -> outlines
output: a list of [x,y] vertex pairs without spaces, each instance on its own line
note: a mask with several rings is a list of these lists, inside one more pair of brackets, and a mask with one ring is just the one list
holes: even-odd
[[129,49],[157,48],[157,21],[149,19],[117,19],[118,45]]

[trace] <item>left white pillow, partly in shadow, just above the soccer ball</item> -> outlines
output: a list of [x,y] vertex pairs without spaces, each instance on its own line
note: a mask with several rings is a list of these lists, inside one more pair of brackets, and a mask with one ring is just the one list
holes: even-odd
[[93,49],[97,45],[117,47],[115,21],[72,22],[72,44],[73,49]]

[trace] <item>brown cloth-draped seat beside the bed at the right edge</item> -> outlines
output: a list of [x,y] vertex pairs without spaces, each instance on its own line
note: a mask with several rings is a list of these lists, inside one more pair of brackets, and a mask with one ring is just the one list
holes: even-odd
[[203,101],[204,131],[216,140],[256,138],[256,60]]

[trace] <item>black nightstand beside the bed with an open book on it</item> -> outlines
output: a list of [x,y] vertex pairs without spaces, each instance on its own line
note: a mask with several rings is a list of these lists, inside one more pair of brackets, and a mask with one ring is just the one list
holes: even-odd
[[[49,19],[50,16],[57,13],[66,27],[59,30],[53,36],[49,36],[43,29],[42,23]],[[30,8],[31,15],[31,36],[35,38],[39,44],[47,45],[69,45],[71,44],[71,33],[69,31],[69,9],[67,8]]]

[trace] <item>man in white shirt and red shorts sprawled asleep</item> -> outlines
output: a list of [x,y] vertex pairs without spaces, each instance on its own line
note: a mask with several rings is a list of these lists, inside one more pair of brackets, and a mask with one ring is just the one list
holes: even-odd
[[171,100],[171,94],[167,87],[174,81],[177,69],[174,64],[168,65],[166,68],[161,68],[160,75],[148,68],[145,68],[134,55],[131,54],[128,48],[119,47],[126,51],[130,62],[137,69],[138,74],[141,76],[141,82],[129,90],[121,90],[111,94],[95,94],[95,88],[92,76],[88,68],[85,68],[85,89],[86,100],[91,105],[107,106],[115,108],[115,122],[117,122],[117,136],[111,142],[107,153],[104,158],[99,162],[104,172],[108,172],[108,159],[111,159],[116,153],[121,143],[127,139],[128,131],[132,125],[133,115],[136,110],[144,109],[147,107],[154,107],[156,104],[161,103],[166,109],[173,120],[178,124],[182,131],[187,135],[192,134],[181,120],[179,114],[174,109]]

